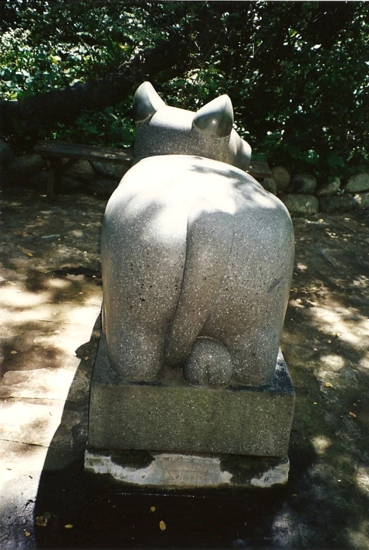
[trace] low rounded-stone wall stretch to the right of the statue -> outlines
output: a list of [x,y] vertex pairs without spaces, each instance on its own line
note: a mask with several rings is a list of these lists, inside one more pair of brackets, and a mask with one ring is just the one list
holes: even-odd
[[292,174],[284,166],[272,168],[272,177],[261,182],[279,196],[294,215],[317,212],[347,212],[369,207],[369,173],[351,175],[345,180],[334,177],[318,182],[308,173]]

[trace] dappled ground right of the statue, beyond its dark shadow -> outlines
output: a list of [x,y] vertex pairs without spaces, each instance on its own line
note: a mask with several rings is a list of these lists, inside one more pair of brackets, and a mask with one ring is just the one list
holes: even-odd
[[308,548],[369,545],[368,225],[365,211],[295,220],[282,345],[297,397],[289,503]]

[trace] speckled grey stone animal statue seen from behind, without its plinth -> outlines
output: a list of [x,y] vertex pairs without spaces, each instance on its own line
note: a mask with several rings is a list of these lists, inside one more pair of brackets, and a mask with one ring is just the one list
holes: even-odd
[[273,378],[294,263],[282,202],[244,172],[227,95],[197,113],[149,82],[134,98],[134,164],[106,206],[103,330],[120,380],[181,367],[190,385]]

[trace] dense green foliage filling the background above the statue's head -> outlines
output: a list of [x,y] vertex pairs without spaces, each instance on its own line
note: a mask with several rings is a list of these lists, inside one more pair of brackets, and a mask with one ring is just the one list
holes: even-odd
[[[113,72],[163,40],[186,48],[182,75],[153,82],[173,106],[218,94],[255,154],[320,176],[369,164],[367,2],[39,1],[0,4],[0,93],[24,99]],[[132,143],[130,101],[39,137]]]

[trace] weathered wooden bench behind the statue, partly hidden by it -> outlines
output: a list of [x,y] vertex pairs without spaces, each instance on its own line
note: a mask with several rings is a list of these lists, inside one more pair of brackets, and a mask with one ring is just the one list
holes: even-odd
[[[52,201],[54,196],[54,185],[61,186],[61,177],[77,161],[95,161],[116,164],[131,164],[133,149],[107,149],[106,147],[80,145],[74,143],[54,142],[44,140],[37,142],[34,151],[41,155],[49,164],[49,178],[47,182],[46,197]],[[62,159],[68,158],[66,163]],[[272,173],[268,163],[252,161],[247,173],[256,180],[263,180],[271,177]]]

